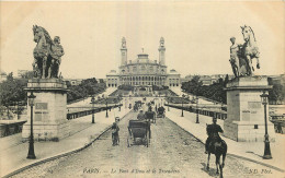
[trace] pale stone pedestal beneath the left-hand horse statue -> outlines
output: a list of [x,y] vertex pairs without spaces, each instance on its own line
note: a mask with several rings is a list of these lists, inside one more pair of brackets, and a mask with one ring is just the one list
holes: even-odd
[[[58,141],[69,135],[67,120],[67,86],[59,79],[33,79],[27,83],[27,96],[36,96],[33,107],[34,140]],[[22,138],[31,133],[31,106],[27,106],[27,122],[23,126]]]

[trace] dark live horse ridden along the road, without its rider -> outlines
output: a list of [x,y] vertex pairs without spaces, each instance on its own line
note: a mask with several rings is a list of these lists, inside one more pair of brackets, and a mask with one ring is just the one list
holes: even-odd
[[[207,126],[208,127],[208,126]],[[216,174],[219,174],[219,177],[223,178],[223,168],[225,166],[225,159],[227,155],[227,143],[224,140],[220,140],[218,133],[214,134],[212,141],[208,146],[208,162],[207,162],[207,170],[209,170],[209,157],[210,154],[215,154],[216,156]],[[220,156],[223,155],[223,164],[220,164]]]

